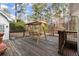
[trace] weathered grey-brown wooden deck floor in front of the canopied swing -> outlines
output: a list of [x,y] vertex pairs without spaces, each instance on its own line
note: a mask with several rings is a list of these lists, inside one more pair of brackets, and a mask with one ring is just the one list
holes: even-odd
[[4,42],[7,50],[2,56],[59,56],[57,37],[48,37],[48,40],[39,41],[38,44],[28,37]]

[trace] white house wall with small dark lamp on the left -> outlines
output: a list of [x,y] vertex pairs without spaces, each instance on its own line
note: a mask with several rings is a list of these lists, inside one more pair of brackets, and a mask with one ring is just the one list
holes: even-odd
[[0,14],[0,25],[4,26],[4,36],[3,36],[3,40],[7,40],[9,39],[9,22],[7,21],[7,19]]

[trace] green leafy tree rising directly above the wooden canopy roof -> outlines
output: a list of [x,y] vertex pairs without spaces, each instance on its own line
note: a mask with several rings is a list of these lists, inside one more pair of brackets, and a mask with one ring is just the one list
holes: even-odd
[[36,4],[32,4],[32,8],[33,8],[33,18],[34,19],[41,19],[43,14],[43,10],[45,9],[46,4],[42,4],[42,3],[36,3]]

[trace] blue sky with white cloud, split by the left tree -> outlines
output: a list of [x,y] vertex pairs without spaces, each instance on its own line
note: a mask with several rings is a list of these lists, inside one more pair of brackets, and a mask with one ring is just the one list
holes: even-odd
[[[2,8],[7,8],[9,10],[9,12],[12,14],[12,15],[15,15],[15,3],[0,3],[0,6]],[[29,4],[27,7],[26,7],[26,11],[29,15],[32,14],[32,5]]]

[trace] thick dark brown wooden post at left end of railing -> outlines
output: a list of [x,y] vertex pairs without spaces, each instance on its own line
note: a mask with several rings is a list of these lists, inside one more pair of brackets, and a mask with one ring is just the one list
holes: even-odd
[[67,35],[65,31],[58,31],[59,34],[59,46],[58,46],[58,53],[62,54],[63,53],[63,47],[65,45]]

